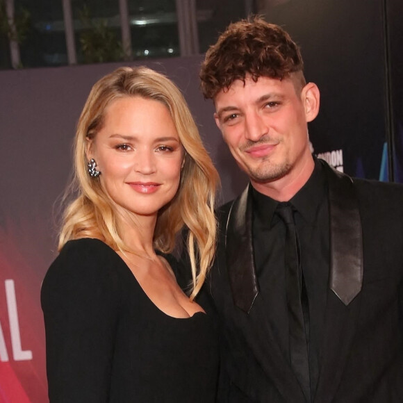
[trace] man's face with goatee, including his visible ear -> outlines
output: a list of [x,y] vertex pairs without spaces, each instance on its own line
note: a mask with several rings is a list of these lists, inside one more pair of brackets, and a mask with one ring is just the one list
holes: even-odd
[[[318,115],[319,92],[309,83],[247,76],[215,97],[215,122],[252,183],[298,176],[312,161],[307,122]],[[292,179],[292,178],[290,178]]]

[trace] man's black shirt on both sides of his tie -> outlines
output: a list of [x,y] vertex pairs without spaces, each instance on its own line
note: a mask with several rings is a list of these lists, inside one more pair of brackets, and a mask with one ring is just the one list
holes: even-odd
[[[284,240],[286,227],[275,213],[278,201],[252,188],[254,260],[261,297],[273,337],[286,359],[290,356]],[[320,366],[329,278],[329,201],[323,169],[315,161],[309,180],[290,199],[301,246],[302,272],[309,301],[309,373],[315,396]]]

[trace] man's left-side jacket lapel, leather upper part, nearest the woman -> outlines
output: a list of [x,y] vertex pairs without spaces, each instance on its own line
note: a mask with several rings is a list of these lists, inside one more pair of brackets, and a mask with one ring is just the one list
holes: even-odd
[[[250,185],[233,201],[227,220],[225,252],[227,272],[233,303],[248,315],[250,327],[244,336],[270,383],[279,390],[286,402],[304,402],[302,389],[286,362],[265,320],[265,303],[259,294],[258,279],[254,267],[252,242],[252,196]],[[258,399],[256,390],[255,399]],[[265,401],[264,397],[261,397]]]

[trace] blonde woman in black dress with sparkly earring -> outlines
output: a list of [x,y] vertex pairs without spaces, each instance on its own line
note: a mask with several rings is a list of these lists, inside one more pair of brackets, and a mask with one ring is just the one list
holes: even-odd
[[[76,190],[42,284],[50,402],[214,401],[217,349],[193,299],[211,266],[217,172],[181,92],[146,67],[92,88]],[[155,251],[186,226],[192,291]]]

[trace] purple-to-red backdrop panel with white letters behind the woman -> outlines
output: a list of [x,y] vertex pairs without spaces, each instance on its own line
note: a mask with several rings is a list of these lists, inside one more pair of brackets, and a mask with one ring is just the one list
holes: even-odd
[[[199,92],[201,57],[143,63],[188,99],[222,176],[222,199],[245,186]],[[76,122],[91,86],[122,64],[0,72],[0,402],[47,401],[40,285],[56,256],[54,211],[72,171]],[[231,174],[232,173],[232,174]],[[236,179],[233,179],[233,178]]]

